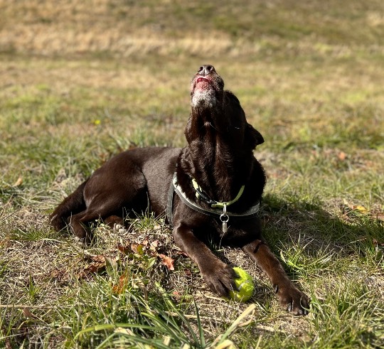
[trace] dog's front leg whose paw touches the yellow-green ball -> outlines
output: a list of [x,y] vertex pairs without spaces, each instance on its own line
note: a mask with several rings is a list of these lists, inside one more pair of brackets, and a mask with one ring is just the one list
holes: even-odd
[[236,289],[233,279],[238,276],[235,271],[215,257],[207,245],[193,234],[190,227],[180,224],[174,227],[173,234],[176,245],[198,265],[211,291],[219,296],[228,296],[230,290]]

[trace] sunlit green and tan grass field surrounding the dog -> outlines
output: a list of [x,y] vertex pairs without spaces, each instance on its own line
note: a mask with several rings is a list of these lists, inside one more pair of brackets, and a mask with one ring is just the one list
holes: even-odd
[[[0,348],[383,347],[384,3],[236,3],[0,0]],[[87,249],[49,226],[112,155],[185,144],[202,63],[265,138],[264,235],[309,316],[213,246],[256,285],[218,299],[150,214]]]

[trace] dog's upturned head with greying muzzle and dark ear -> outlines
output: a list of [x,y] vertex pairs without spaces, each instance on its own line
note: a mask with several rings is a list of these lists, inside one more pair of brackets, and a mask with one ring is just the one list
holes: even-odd
[[[218,131],[230,143],[255,149],[264,139],[259,131],[247,123],[238,98],[224,90],[224,81],[213,65],[202,65],[191,81],[192,117]],[[192,131],[187,125],[186,136]],[[194,137],[193,137],[194,138]]]

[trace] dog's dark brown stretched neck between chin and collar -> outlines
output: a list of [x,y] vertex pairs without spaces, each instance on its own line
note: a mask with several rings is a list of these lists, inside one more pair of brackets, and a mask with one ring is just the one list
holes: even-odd
[[[186,126],[188,146],[183,172],[197,183],[213,200],[233,200],[251,171],[252,151],[244,153],[228,134],[224,112],[216,109],[193,109]],[[220,117],[222,119],[220,119]]]

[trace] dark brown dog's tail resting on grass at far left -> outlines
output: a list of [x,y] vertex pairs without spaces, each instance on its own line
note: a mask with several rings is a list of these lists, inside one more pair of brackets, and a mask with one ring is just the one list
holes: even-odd
[[67,198],[50,215],[50,225],[57,231],[62,230],[67,225],[67,218],[76,213],[85,210],[84,187],[88,180],[81,183],[80,186]]

